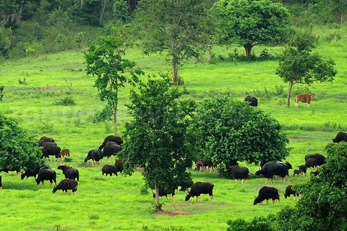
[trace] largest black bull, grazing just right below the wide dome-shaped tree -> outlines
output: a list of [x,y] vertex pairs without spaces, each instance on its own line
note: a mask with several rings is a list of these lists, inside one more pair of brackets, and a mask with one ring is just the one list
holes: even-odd
[[285,181],[285,177],[287,175],[288,167],[285,163],[279,161],[269,161],[263,165],[263,167],[255,172],[255,175],[263,175],[266,177],[265,184],[268,183],[271,178],[271,184],[273,183],[273,176],[280,176],[282,178],[282,182]]

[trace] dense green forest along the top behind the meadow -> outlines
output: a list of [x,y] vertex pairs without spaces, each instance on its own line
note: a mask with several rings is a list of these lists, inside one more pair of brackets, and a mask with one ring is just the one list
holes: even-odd
[[[2,0],[0,56],[11,59],[81,49],[96,36],[111,33],[112,26],[135,23],[139,2],[141,1]],[[211,7],[214,1],[207,2],[204,7]],[[281,2],[288,8],[291,25],[294,27],[312,28],[329,24],[332,28],[339,29],[345,22],[347,11],[345,0],[273,2]],[[190,1],[187,3],[193,4]],[[164,11],[159,11],[156,14],[161,12],[164,15]],[[170,17],[171,12],[167,14]],[[213,22],[213,16],[208,20]],[[145,28],[137,27],[133,33],[139,35],[143,30]],[[335,36],[338,38],[338,31],[336,33]],[[215,32],[210,30],[208,34],[213,37]],[[206,41],[205,43],[208,44]]]

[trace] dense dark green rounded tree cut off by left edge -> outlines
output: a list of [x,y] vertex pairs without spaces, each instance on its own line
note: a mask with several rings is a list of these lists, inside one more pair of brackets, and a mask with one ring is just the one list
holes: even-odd
[[34,138],[0,114],[0,171],[36,169],[44,165],[41,156]]

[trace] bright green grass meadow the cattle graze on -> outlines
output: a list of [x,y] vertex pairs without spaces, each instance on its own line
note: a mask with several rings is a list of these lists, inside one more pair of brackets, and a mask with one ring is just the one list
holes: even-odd
[[[316,34],[327,35],[330,32],[327,28],[316,30]],[[309,108],[302,103],[295,108],[294,97],[291,107],[285,106],[287,85],[274,74],[277,61],[217,61],[216,64],[208,64],[206,60],[202,63],[192,61],[180,70],[187,93],[183,98],[199,101],[224,91],[230,91],[240,100],[247,94],[257,96],[259,108],[284,125],[290,139],[289,146],[294,148],[287,160],[293,166],[301,165],[307,153],[325,154],[324,146],[338,131],[347,127],[346,29],[342,28],[341,34],[340,41],[331,43],[321,35],[317,48],[323,57],[335,60],[338,71],[335,81],[315,83],[308,90],[304,86],[294,86],[293,92],[316,94]],[[254,51],[259,55],[263,48],[258,46]],[[267,48],[271,54],[281,50],[280,47]],[[243,52],[242,48],[238,50]],[[217,55],[227,56],[232,51],[233,48],[215,48]],[[127,57],[137,62],[146,75],[170,71],[164,54],[144,56],[140,50],[133,49],[128,51]],[[293,178],[290,170],[285,183],[274,179],[274,186],[281,189],[281,203],[253,206],[254,196],[264,186],[264,178],[251,178],[246,184],[241,184],[240,181],[221,179],[216,172],[193,172],[194,181],[211,181],[215,185],[213,201],[208,201],[208,195],[202,195],[202,202],[196,203],[195,198],[185,202],[185,193],[178,192],[176,202],[170,198],[161,199],[163,209],[170,213],[153,213],[150,190],[146,195],[140,193],[144,186],[140,172],[136,171],[133,176],[102,177],[102,166],[113,164],[114,158],[103,159],[99,167],[92,167],[91,163],[82,164],[87,152],[97,148],[105,136],[112,134],[112,126],[110,129],[108,124],[92,123],[93,115],[103,108],[103,104],[93,88],[93,78],[87,76],[84,69],[80,51],[30,57],[0,65],[0,85],[5,86],[0,112],[16,118],[21,127],[37,138],[52,136],[62,149],[70,149],[73,161],[67,164],[77,167],[81,176],[77,194],[69,192],[69,195],[63,195],[60,192],[52,194],[48,182],[46,186],[36,185],[34,178],[20,180],[14,172],[10,172],[10,176],[2,172],[0,230],[53,230],[54,225],[60,225],[60,230],[76,231],[142,230],[143,225],[155,230],[168,226],[185,230],[226,230],[229,219],[251,220],[254,216],[275,213],[284,206],[294,206],[293,199],[285,200],[282,192],[288,184],[306,182],[309,173],[306,178]],[[24,77],[27,85],[19,85],[18,79]],[[70,84],[76,105],[55,105],[56,101],[67,96]],[[276,87],[283,87],[283,92],[276,91]],[[125,106],[129,103],[129,89],[127,86],[120,90],[120,133],[124,131],[124,123],[130,119]],[[61,173],[56,169],[59,163],[52,157],[47,163]],[[248,168],[254,173],[257,166],[248,165]],[[58,182],[61,179],[63,175],[58,175]]]

